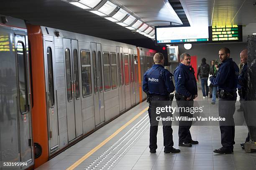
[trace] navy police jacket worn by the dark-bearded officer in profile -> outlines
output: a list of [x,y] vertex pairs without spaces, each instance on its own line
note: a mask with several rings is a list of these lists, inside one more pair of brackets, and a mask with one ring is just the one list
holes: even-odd
[[232,58],[226,59],[219,67],[216,77],[210,77],[213,85],[218,86],[218,90],[226,90],[228,92],[236,92],[238,84],[239,68]]

